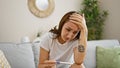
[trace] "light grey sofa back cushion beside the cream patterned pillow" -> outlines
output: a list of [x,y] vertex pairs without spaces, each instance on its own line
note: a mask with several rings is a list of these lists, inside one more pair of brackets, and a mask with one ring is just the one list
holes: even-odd
[[32,44],[0,43],[11,68],[35,68]]

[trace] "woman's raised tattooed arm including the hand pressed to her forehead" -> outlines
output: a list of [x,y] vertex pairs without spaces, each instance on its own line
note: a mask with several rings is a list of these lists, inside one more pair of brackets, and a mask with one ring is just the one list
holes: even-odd
[[87,26],[84,18],[84,14],[80,15],[74,13],[70,16],[71,21],[78,25],[80,29],[79,45],[74,48],[74,61],[75,64],[81,65],[85,58],[86,46],[87,46]]

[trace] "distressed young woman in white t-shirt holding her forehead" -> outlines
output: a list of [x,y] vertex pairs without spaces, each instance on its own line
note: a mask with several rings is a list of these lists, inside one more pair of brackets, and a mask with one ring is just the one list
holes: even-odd
[[[86,54],[87,26],[84,14],[76,11],[66,13],[58,28],[51,29],[41,39],[38,68],[84,68]],[[57,61],[74,63],[57,64]]]

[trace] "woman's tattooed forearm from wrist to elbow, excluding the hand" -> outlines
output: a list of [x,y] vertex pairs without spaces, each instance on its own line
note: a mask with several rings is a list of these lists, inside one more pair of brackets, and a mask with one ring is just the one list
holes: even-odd
[[86,54],[86,46],[87,46],[87,37],[84,31],[81,31],[79,45],[74,48],[74,61],[76,64],[81,65],[84,61]]

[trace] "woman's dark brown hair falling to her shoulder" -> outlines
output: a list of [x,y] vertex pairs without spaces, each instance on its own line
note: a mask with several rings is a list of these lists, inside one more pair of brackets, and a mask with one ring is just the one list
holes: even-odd
[[[54,27],[53,29],[51,29],[49,32],[52,32],[52,33],[56,34],[56,35],[57,35],[56,38],[59,37],[59,36],[61,35],[61,31],[62,31],[63,25],[64,25],[67,21],[69,21],[69,17],[70,17],[70,15],[72,15],[73,13],[78,13],[78,12],[76,12],[76,11],[70,11],[70,12],[66,13],[66,14],[62,17],[62,19],[61,19],[61,21],[60,21],[60,23],[59,23],[58,29],[57,29],[56,26],[55,26],[55,27]],[[79,13],[78,13],[78,14],[79,14]],[[79,32],[78,35],[75,37],[75,39],[78,39],[78,38],[79,38],[79,35],[80,35],[80,32]]]

